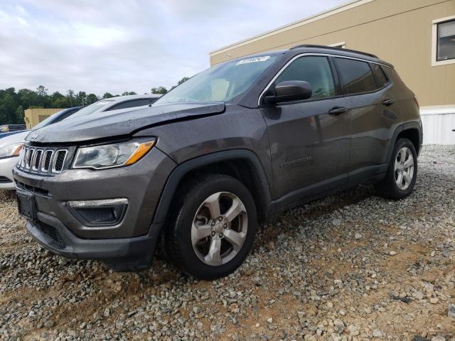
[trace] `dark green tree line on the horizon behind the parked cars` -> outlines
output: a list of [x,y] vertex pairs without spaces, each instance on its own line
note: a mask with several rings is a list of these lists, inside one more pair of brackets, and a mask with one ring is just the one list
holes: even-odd
[[[183,77],[177,85],[188,80]],[[175,86],[171,87],[173,89]],[[166,94],[166,87],[152,87],[152,94]],[[127,94],[137,94],[134,91],[123,92]],[[87,94],[85,91],[75,92],[68,90],[66,94],[58,91],[48,94],[48,89],[40,85],[36,90],[21,89],[16,91],[14,87],[0,90],[0,125],[1,124],[25,124],[24,111],[34,108],[58,108],[65,109],[70,107],[85,106],[97,102],[100,99],[117,97],[119,94],[105,92],[101,97],[96,94]]]

